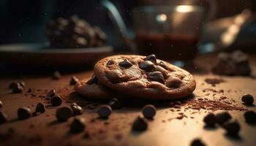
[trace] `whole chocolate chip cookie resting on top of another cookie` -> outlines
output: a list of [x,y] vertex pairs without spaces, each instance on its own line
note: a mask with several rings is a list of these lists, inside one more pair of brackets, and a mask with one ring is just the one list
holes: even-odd
[[181,99],[192,94],[192,74],[155,55],[113,55],[94,66],[99,82],[115,91],[144,99]]

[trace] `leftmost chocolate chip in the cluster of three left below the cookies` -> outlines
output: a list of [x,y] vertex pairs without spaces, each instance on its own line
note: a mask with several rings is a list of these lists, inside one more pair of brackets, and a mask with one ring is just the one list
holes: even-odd
[[69,107],[61,107],[56,111],[56,118],[59,121],[67,121],[73,115],[72,109]]

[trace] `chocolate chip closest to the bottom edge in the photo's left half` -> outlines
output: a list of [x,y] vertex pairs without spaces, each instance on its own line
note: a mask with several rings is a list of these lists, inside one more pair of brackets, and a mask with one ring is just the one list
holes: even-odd
[[83,131],[83,129],[86,128],[86,122],[84,118],[74,118],[70,125],[70,131],[72,133],[79,133]]

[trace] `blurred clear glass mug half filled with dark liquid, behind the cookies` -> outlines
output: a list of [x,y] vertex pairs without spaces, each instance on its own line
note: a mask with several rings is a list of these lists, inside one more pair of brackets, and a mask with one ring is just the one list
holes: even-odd
[[116,7],[101,1],[108,9],[124,43],[143,55],[155,54],[167,61],[195,58],[206,9],[193,5],[146,6],[132,10],[135,32],[127,28]]

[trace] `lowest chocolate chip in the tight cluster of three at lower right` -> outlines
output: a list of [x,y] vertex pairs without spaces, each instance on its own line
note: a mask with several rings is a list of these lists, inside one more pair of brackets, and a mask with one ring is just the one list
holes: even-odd
[[240,131],[240,124],[236,120],[229,121],[223,124],[223,128],[227,131],[227,134],[236,136]]

